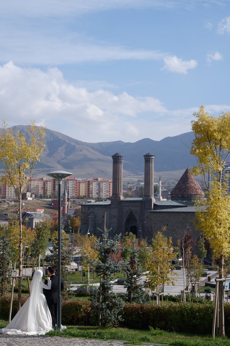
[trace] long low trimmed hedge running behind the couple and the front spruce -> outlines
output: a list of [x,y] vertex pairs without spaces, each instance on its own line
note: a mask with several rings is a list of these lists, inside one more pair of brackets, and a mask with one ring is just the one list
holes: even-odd
[[[27,297],[22,297],[22,303]],[[8,319],[10,296],[0,297],[0,318]],[[211,334],[213,302],[172,303],[163,306],[125,304],[121,313],[121,327],[133,329],[159,328],[183,333]],[[13,298],[12,317],[17,312],[17,297]],[[69,300],[62,302],[63,325],[90,325],[92,323],[90,301]],[[224,304],[225,333],[230,336],[230,304]]]

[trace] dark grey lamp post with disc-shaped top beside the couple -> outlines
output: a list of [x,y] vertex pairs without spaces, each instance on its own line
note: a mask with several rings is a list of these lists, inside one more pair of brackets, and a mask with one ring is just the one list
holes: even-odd
[[72,173],[55,171],[47,173],[58,181],[58,302],[57,302],[57,328],[61,331],[61,182]]

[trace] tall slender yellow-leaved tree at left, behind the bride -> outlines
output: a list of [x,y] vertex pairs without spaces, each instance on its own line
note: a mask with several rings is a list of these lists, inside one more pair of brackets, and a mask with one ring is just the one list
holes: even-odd
[[[19,275],[22,275],[22,193],[26,191],[34,171],[34,165],[43,154],[45,129],[31,121],[29,138],[19,130],[7,128],[5,121],[0,131],[0,162],[3,165],[1,180],[12,186],[19,198]],[[18,285],[18,310],[21,308],[21,279]]]

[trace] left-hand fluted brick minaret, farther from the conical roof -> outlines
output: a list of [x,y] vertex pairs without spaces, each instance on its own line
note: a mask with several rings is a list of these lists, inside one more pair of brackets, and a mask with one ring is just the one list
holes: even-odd
[[113,187],[111,199],[123,199],[123,157],[116,153],[112,156],[113,159]]

